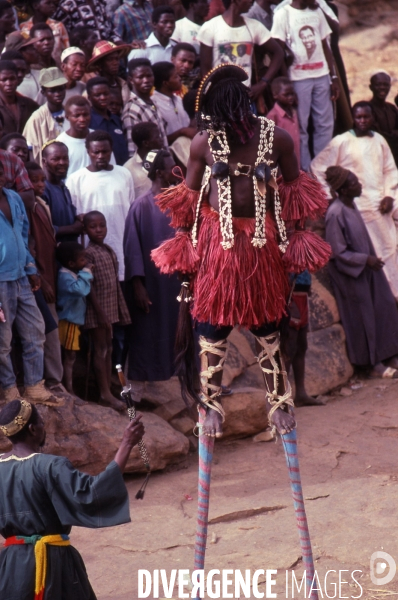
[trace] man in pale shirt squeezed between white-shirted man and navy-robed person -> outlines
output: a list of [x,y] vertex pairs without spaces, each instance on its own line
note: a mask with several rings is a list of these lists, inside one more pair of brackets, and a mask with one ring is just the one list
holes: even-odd
[[143,161],[150,150],[160,150],[163,140],[155,123],[138,123],[131,130],[131,137],[137,148],[134,156],[124,165],[133,177],[134,197],[139,198],[149,192],[152,182],[143,167]]

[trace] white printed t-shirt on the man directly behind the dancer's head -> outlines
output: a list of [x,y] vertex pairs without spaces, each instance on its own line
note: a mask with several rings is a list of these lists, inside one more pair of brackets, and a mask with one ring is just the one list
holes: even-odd
[[213,48],[213,67],[223,63],[243,67],[248,75],[244,83],[250,86],[254,45],[262,46],[271,39],[271,34],[256,19],[243,16],[243,20],[245,25],[230,27],[222,15],[214,17],[202,25],[197,40]]

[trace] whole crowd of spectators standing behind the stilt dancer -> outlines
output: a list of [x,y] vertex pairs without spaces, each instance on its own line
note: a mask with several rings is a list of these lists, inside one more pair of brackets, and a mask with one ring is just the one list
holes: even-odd
[[[398,376],[398,109],[380,70],[351,109],[338,36],[329,0],[0,0],[3,401],[23,386],[62,405],[82,339],[115,410],[113,364],[137,382],[173,375],[180,283],[151,260],[173,235],[156,196],[187,172],[197,90],[220,64],[244,69],[252,110],[290,134],[330,199],[350,360]],[[292,286],[287,358],[296,400],[311,404],[309,273]]]

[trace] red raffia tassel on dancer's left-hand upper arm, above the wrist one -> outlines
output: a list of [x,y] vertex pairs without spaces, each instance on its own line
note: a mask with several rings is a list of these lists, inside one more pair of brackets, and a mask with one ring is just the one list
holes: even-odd
[[195,222],[196,205],[200,192],[190,190],[185,181],[175,187],[164,189],[156,196],[156,204],[162,212],[169,212],[171,227],[192,227]]

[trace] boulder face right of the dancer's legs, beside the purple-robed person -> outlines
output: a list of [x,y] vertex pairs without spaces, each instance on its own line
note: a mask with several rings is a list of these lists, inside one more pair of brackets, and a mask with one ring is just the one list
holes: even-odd
[[325,394],[345,383],[354,370],[347,357],[345,333],[340,324],[308,334],[305,382],[312,396]]

